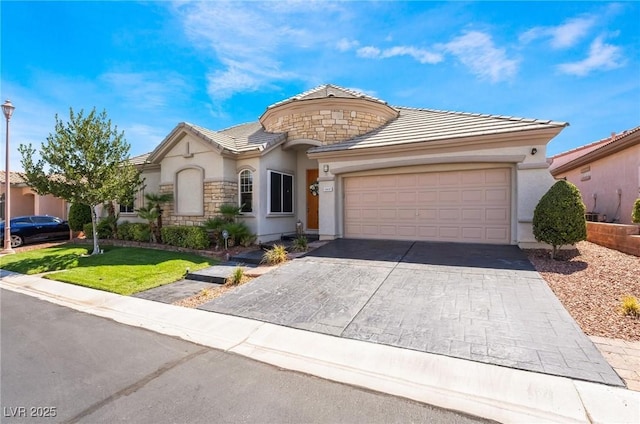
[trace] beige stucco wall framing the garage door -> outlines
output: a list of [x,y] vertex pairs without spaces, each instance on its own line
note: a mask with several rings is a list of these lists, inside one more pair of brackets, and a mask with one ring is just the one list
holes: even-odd
[[[537,151],[532,154],[532,149]],[[532,136],[502,143],[479,143],[475,146],[442,146],[415,151],[389,151],[384,155],[340,157],[318,155],[320,168],[328,164],[327,175],[320,172],[320,237],[334,239],[343,236],[344,217],[343,178],[354,175],[442,172],[461,169],[504,167],[512,172],[511,243],[522,246],[537,245],[533,238],[533,210],[554,180],[545,159],[546,139]],[[330,190],[330,191],[325,191]]]

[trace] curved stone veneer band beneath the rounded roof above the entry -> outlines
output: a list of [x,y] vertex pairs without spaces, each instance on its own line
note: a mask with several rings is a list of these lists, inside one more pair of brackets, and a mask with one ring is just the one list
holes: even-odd
[[269,132],[286,132],[288,141],[311,139],[334,144],[368,133],[387,121],[387,117],[370,112],[320,109],[279,116],[264,124]]

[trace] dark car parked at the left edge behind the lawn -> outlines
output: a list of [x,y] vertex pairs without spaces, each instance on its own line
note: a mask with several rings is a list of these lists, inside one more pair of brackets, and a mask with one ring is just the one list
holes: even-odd
[[[4,224],[0,222],[0,241],[4,246]],[[30,215],[11,218],[11,247],[26,243],[70,238],[69,223],[49,215]]]

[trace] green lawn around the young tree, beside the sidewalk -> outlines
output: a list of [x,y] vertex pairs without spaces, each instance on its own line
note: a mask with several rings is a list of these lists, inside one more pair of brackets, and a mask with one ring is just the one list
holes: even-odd
[[0,267],[21,274],[113,293],[130,295],[182,279],[191,271],[215,265],[215,259],[181,252],[106,246],[104,254],[87,255],[92,247],[65,245],[3,256]]

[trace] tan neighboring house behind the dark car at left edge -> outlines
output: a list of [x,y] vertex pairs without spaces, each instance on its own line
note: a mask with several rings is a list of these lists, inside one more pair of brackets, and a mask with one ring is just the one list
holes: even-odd
[[[0,172],[0,218],[4,219],[5,177],[6,172]],[[67,202],[51,195],[40,196],[26,183],[21,172],[9,173],[11,189],[11,216],[22,215],[51,215],[67,219]]]

